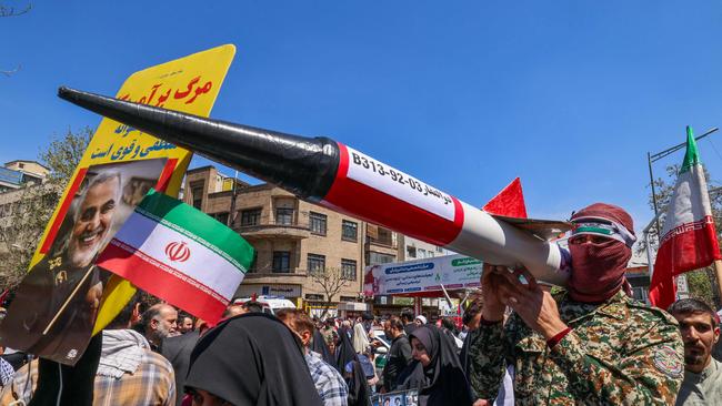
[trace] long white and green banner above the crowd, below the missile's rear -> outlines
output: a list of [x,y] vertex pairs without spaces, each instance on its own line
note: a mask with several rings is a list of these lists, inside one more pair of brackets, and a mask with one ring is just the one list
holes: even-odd
[[479,287],[483,262],[464,256],[447,255],[367,266],[364,294],[438,296],[445,290]]

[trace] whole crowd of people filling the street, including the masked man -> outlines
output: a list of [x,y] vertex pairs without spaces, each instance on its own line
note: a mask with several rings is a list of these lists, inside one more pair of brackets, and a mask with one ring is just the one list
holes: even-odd
[[94,405],[371,406],[402,390],[428,406],[722,404],[718,314],[695,298],[663,311],[630,296],[622,209],[593,204],[572,222],[573,272],[553,294],[523,268],[487,264],[460,321],[271,315],[251,300],[211,326],[134,297],[71,372],[4,348],[0,403],[49,404],[52,380],[72,376],[87,390],[63,396]]

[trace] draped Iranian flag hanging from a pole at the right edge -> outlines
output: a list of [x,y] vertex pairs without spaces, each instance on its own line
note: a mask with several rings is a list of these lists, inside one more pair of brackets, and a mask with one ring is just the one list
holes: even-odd
[[710,195],[692,129],[686,128],[686,153],[666,210],[654,262],[650,302],[666,308],[675,301],[674,276],[710,265],[720,256]]

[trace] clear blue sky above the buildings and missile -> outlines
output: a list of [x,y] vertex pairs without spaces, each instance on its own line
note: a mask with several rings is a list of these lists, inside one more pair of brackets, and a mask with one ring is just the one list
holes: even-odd
[[722,125],[721,17],[719,1],[33,2],[0,19],[0,69],[21,65],[0,77],[0,161],[98,125],[59,85],[112,95],[233,43],[211,116],[333,138],[478,206],[521,176],[533,216],[604,201],[640,230],[646,152]]

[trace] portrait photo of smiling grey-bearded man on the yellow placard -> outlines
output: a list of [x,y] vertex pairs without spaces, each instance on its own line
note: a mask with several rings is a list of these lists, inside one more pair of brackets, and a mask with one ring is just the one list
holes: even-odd
[[0,325],[3,346],[73,365],[82,355],[110,274],[94,266],[167,159],[92,165],[84,171],[46,256],[19,285]]

